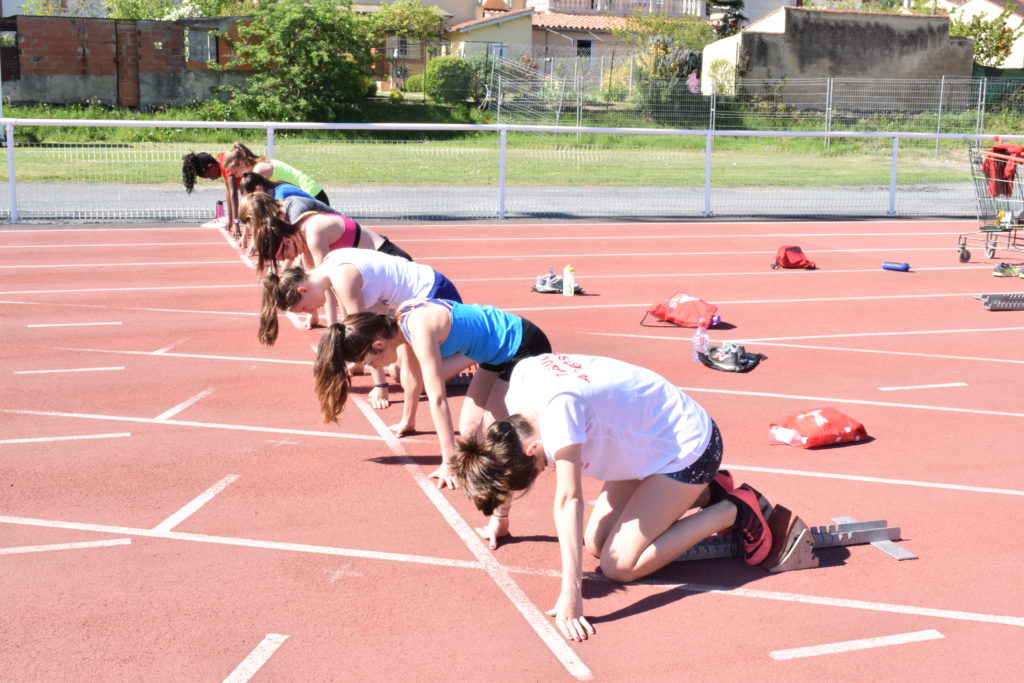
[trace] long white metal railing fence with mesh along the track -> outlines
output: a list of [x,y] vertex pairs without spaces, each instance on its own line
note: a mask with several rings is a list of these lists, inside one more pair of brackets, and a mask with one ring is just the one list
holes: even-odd
[[[973,217],[966,139],[936,133],[566,126],[0,119],[10,222],[197,220],[219,180],[181,186],[202,144],[14,143],[23,126],[230,128],[302,169],[359,219],[515,217]],[[318,139],[292,137],[318,131]],[[339,132],[402,139],[332,138]],[[369,133],[368,133],[369,132]],[[538,134],[543,134],[539,136]],[[447,135],[434,139],[430,135]],[[451,137],[460,135],[460,137]],[[1011,136],[1012,137],[1012,136]],[[937,142],[951,152],[936,154]],[[226,146],[226,145],[224,145]]]

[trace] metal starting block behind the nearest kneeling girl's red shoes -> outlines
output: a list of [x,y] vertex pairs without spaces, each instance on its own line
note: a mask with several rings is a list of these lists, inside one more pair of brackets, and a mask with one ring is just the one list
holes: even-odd
[[[768,515],[772,533],[772,548],[761,566],[769,573],[818,566],[814,551],[818,548],[838,548],[871,544],[897,560],[915,559],[918,556],[898,546],[898,526],[889,526],[886,520],[860,522],[852,517],[834,517],[835,524],[808,526],[788,508],[776,505]],[[742,557],[743,549],[732,535],[713,536],[676,558],[677,562],[710,560],[723,557]]]

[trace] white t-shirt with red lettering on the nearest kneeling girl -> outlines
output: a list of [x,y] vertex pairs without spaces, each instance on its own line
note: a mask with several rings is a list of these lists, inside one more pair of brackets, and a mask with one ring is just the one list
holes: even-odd
[[583,444],[585,476],[641,479],[689,467],[708,447],[711,418],[664,377],[596,355],[545,353],[512,371],[509,414],[536,411],[551,464]]

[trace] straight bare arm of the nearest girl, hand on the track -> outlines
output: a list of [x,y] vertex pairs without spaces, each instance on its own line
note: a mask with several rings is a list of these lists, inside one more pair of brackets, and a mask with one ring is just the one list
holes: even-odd
[[583,615],[583,468],[580,444],[555,454],[555,528],[562,557],[562,587],[558,602],[548,611],[569,640],[586,640],[593,627]]

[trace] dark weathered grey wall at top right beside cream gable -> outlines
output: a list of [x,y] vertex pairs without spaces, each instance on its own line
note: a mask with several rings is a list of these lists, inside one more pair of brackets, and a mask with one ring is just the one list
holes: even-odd
[[949,36],[945,16],[785,7],[783,34],[740,34],[744,78],[971,77],[974,42]]

